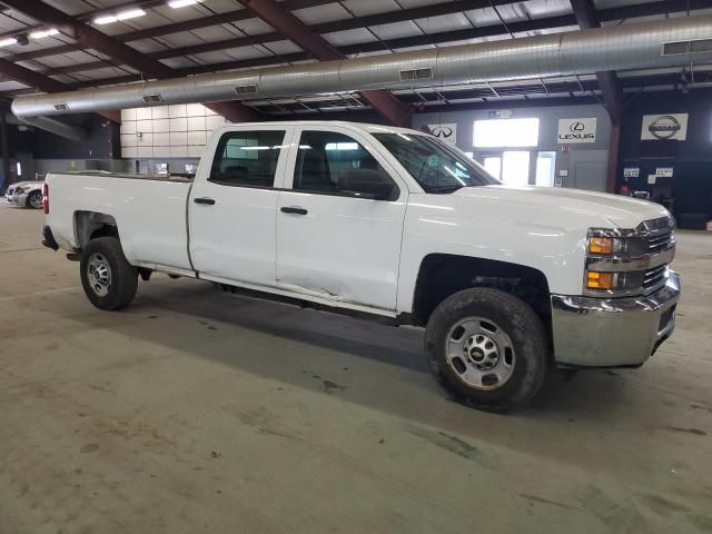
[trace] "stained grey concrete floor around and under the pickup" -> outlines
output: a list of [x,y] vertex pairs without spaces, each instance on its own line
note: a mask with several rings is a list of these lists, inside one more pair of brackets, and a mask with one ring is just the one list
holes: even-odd
[[712,236],[673,338],[497,416],[422,333],[141,283],[95,309],[42,214],[0,207],[0,533],[712,532]]

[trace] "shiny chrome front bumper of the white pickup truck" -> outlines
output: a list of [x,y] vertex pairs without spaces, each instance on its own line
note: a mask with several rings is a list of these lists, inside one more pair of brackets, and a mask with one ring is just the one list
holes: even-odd
[[563,367],[636,367],[675,327],[680,277],[647,296],[552,295],[554,357]]

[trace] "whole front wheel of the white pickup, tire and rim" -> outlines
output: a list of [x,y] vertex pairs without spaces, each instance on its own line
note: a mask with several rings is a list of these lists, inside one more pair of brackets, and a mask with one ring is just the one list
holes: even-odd
[[438,384],[477,409],[522,406],[544,383],[544,325],[528,305],[498,289],[465,289],[441,303],[427,323],[425,350]]

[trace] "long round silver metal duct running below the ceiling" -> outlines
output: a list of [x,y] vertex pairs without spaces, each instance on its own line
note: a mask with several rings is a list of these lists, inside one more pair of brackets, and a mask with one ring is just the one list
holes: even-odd
[[215,102],[683,67],[712,61],[712,49],[706,46],[710,39],[712,16],[685,17],[506,41],[27,96],[14,99],[12,111],[18,117],[41,117],[140,108],[149,105],[147,97],[155,95],[160,95],[162,105]]

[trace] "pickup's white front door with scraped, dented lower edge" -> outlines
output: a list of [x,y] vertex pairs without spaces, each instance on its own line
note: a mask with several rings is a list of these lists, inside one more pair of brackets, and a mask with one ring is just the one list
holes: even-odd
[[[278,287],[335,306],[395,310],[405,184],[359,132],[303,128],[294,139],[277,212]],[[339,190],[349,169],[382,172],[394,194],[375,200]]]

